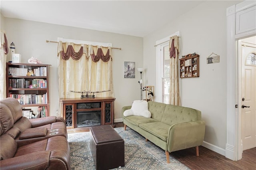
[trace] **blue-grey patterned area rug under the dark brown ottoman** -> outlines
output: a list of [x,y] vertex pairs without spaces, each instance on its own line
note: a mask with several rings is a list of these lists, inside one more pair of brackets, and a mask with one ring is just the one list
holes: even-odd
[[[170,156],[166,163],[165,151],[145,141],[145,138],[130,129],[114,128],[124,139],[125,166],[114,170],[189,170],[184,164]],[[72,170],[95,170],[90,152],[90,132],[68,134]]]

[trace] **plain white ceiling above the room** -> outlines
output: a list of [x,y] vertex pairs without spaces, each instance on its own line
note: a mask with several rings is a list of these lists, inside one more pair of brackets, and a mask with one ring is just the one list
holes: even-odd
[[204,0],[0,0],[0,12],[50,24],[144,37]]

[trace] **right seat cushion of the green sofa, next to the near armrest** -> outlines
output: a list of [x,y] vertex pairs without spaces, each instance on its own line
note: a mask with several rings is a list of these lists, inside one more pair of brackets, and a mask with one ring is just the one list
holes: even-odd
[[161,122],[143,123],[139,125],[140,128],[154,134],[158,138],[167,141],[168,131],[170,126]]

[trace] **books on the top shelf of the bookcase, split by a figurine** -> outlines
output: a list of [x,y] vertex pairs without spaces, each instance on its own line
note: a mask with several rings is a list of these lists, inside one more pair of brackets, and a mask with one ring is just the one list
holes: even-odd
[[[28,68],[9,67],[8,71],[9,71],[9,75],[27,76]],[[38,68],[32,69],[32,71],[34,72],[34,76],[46,76],[47,75],[46,67],[38,67]]]

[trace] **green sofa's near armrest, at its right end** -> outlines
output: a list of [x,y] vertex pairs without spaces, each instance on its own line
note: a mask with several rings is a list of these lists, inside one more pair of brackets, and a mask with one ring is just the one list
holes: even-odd
[[203,120],[172,125],[168,131],[168,151],[173,152],[202,145],[204,132],[205,122]]

